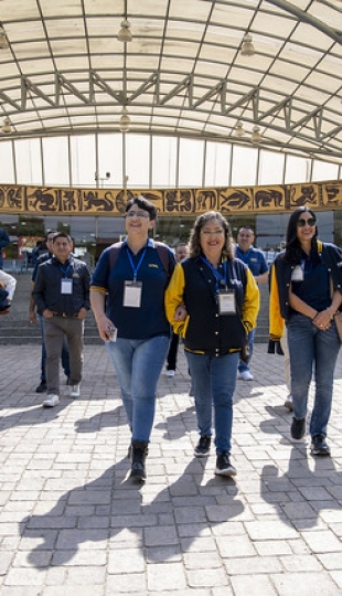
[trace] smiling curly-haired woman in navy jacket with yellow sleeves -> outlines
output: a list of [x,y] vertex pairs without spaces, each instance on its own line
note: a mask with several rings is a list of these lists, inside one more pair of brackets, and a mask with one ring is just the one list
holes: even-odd
[[233,394],[246,333],[254,329],[259,290],[248,267],[234,257],[229,225],[215,211],[200,215],[190,257],[175,266],[165,291],[167,316],[184,338],[193,381],[200,439],[195,457],[210,453],[214,406],[215,473],[235,476],[231,462]]

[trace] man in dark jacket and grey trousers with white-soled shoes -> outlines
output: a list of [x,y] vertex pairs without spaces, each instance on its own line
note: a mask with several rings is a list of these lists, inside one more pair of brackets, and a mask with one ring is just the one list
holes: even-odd
[[52,240],[53,256],[38,268],[32,297],[44,318],[47,397],[43,406],[60,401],[60,358],[64,337],[70,353],[70,394],[79,396],[83,366],[84,319],[89,310],[90,274],[83,260],[72,255],[72,238],[57,232]]

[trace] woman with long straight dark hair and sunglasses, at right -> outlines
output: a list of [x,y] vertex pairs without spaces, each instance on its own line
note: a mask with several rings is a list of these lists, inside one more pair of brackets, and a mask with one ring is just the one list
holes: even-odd
[[340,350],[334,313],[342,302],[342,253],[318,240],[317,216],[307,207],[290,215],[285,252],[274,262],[270,284],[270,341],[287,327],[293,418],[291,437],[306,434],[308,394],[314,369],[310,419],[311,454],[329,456],[327,429],[333,374]]

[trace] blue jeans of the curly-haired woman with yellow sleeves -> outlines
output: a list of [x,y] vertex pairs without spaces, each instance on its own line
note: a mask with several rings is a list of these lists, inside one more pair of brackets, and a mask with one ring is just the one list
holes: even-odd
[[229,454],[238,352],[216,358],[194,354],[185,350],[185,355],[193,382],[200,435],[212,435],[212,406],[214,405],[216,454],[220,455],[223,451]]

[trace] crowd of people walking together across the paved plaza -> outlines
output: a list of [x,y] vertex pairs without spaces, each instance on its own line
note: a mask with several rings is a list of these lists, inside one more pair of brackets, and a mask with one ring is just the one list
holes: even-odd
[[[179,343],[188,361],[199,440],[194,456],[215,447],[215,473],[232,477],[233,397],[249,370],[259,311],[258,285],[269,284],[269,352],[285,354],[290,434],[307,432],[313,456],[330,456],[327,441],[333,375],[340,350],[334,316],[342,304],[342,253],[318,238],[316,213],[302,206],[289,217],[285,249],[270,270],[243,226],[236,243],[221,213],[199,215],[189,244],[171,249],[151,237],[156,205],[143,196],[125,207],[126,237],[106,248],[90,276],[64,232],[50,231],[32,275],[30,320],[42,329],[41,383],[44,407],[60,402],[60,361],[70,396],[81,395],[83,336],[92,308],[120,386],[131,430],[131,477],[147,478],[157,385],[163,366],[174,376]],[[15,279],[0,269],[0,315],[10,312]],[[1,299],[6,300],[1,309]]]

